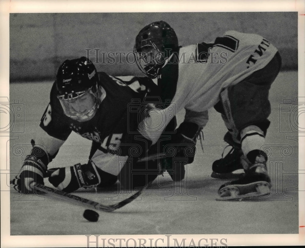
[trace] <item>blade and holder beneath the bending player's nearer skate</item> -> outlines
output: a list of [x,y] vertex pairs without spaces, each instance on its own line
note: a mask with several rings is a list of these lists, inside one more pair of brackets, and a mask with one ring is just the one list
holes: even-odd
[[228,185],[222,188],[219,192],[218,201],[238,200],[243,199],[259,199],[260,196],[270,194],[270,185],[268,182],[260,181],[246,185]]

